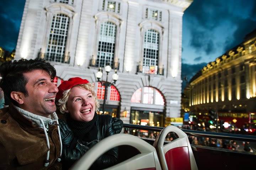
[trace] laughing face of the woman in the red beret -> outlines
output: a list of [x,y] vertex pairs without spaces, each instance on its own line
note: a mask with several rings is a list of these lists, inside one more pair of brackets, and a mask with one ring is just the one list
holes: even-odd
[[67,102],[70,117],[78,121],[91,121],[95,112],[94,96],[79,86],[72,87]]

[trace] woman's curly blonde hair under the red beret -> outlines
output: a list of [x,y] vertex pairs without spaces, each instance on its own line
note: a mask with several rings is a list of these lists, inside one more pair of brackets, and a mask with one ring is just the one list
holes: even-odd
[[[100,107],[100,102],[98,101],[97,95],[94,91],[94,85],[92,83],[86,83],[86,84],[78,84],[73,87],[77,87],[77,86],[81,87],[84,90],[88,90],[92,93],[92,96],[94,97],[94,102],[95,102],[95,111],[98,111],[98,108]],[[63,97],[60,98],[56,103],[61,113],[66,113],[68,111],[67,102],[70,95],[70,90],[71,89],[63,91]]]

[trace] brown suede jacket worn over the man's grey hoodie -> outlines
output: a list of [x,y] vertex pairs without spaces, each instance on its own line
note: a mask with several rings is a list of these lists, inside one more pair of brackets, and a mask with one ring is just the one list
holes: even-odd
[[16,110],[13,104],[0,109],[0,169],[62,169],[57,161],[60,154],[60,140],[57,125],[49,125],[49,166],[46,136],[43,129],[32,124]]

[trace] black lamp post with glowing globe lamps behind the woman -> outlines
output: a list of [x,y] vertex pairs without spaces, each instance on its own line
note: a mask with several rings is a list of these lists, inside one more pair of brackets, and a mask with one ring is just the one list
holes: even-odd
[[106,105],[106,98],[107,98],[108,87],[110,87],[113,84],[115,84],[117,79],[118,79],[118,77],[119,77],[119,75],[117,74],[117,70],[115,70],[115,73],[112,75],[112,79],[113,79],[114,82],[109,83],[107,81],[107,79],[108,79],[108,73],[110,71],[111,71],[111,66],[110,65],[105,66],[105,72],[107,73],[107,78],[106,78],[105,82],[100,80],[102,78],[102,75],[103,75],[101,67],[99,68],[98,72],[96,73],[96,78],[98,79],[98,81],[101,83],[102,86],[105,86],[104,100],[103,100],[103,106],[102,106],[103,114],[105,113],[105,105]]

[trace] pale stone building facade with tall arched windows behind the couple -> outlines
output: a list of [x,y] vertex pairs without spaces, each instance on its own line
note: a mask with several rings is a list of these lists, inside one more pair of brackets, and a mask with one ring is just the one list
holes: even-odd
[[[88,79],[101,103],[105,91],[96,73],[110,64],[109,79],[103,73],[103,80],[110,82],[114,69],[119,79],[106,93],[109,112],[126,123],[180,117],[182,16],[191,3],[26,0],[16,57],[51,62],[57,85],[71,77]],[[139,94],[140,100],[132,100]]]

